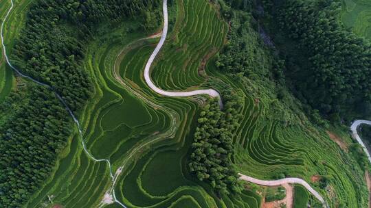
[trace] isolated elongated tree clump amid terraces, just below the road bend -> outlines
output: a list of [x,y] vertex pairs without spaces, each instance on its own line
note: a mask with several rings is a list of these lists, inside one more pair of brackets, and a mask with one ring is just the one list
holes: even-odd
[[[229,91],[229,90],[227,90]],[[238,175],[232,164],[233,135],[238,128],[242,101],[236,93],[223,93],[223,110],[216,99],[210,99],[201,110],[194,133],[190,172],[209,183],[218,193],[238,191]]]

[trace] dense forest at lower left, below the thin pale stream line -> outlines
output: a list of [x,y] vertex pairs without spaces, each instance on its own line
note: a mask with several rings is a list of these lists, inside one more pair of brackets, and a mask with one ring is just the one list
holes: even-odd
[[1,109],[16,110],[0,125],[0,207],[21,207],[55,164],[71,134],[69,115],[53,92],[41,86],[28,89],[23,105],[10,101]]

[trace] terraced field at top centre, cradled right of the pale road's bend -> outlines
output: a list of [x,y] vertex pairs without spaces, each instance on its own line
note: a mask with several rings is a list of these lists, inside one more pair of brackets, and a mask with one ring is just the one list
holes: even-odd
[[185,90],[205,81],[205,62],[223,46],[227,24],[206,1],[179,1],[175,30],[168,36],[151,77],[164,90]]

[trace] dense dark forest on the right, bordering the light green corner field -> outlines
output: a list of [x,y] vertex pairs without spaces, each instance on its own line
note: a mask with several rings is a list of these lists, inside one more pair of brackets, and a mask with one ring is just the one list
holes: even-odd
[[288,59],[286,73],[299,98],[333,121],[371,103],[371,45],[339,23],[340,9],[339,1],[286,0],[274,18],[302,55]]

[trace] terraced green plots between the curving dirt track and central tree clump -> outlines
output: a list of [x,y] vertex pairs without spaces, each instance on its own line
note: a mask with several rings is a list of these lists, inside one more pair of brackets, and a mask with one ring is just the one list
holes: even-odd
[[[186,157],[192,142],[198,104],[186,99],[161,97],[146,90],[147,86],[142,77],[145,62],[137,64],[132,57],[133,54],[148,57],[150,49],[153,47],[148,43],[128,51],[119,64],[120,75],[126,83],[131,84],[133,90],[152,99],[154,103],[177,112],[180,125],[170,140],[154,144],[152,151],[137,157],[118,181],[116,196],[129,207],[179,207],[184,204],[196,207],[225,207],[227,203],[224,199],[214,196],[210,187],[200,186],[194,179],[188,178]],[[236,202],[232,202],[232,205],[240,201],[245,203],[246,207],[248,204],[258,207],[257,199],[251,193],[244,195],[245,198],[243,194],[236,196]]]

